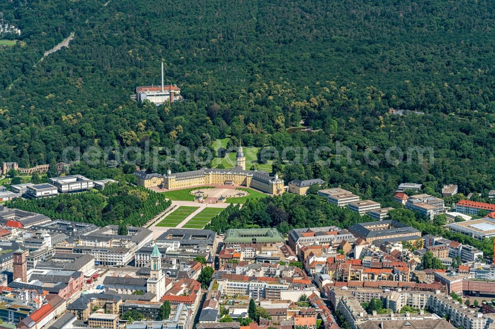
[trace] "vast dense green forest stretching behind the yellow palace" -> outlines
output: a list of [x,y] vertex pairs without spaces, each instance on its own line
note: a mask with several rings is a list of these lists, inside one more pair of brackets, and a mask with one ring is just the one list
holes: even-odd
[[[286,181],[321,177],[370,198],[403,181],[436,192],[444,183],[464,194],[494,189],[491,1],[103,4],[0,4],[23,31],[23,42],[0,46],[7,63],[0,68],[0,161],[48,163],[67,146],[208,148],[233,135],[278,151],[329,148],[330,164],[309,158],[282,167],[275,159]],[[39,62],[72,31],[69,48]],[[159,83],[162,60],[165,82],[177,83],[186,101],[155,107],[131,100],[135,86]],[[321,130],[286,132],[301,120]],[[337,141],[353,151],[352,163],[333,156]],[[370,147],[431,147],[435,161],[366,164]]]

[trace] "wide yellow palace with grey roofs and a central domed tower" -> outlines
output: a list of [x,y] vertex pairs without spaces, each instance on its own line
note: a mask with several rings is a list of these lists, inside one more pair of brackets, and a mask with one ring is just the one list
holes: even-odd
[[203,168],[177,173],[168,170],[161,185],[169,190],[211,184],[241,185],[274,195],[284,192],[284,181],[278,175],[270,176],[264,171],[246,170],[246,156],[242,147],[237,152],[236,164],[232,169]]

